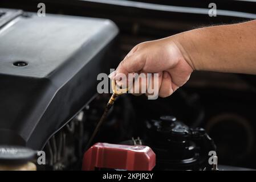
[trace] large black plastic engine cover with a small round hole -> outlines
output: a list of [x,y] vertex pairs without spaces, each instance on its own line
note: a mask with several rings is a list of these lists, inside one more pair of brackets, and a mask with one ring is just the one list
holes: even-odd
[[116,66],[106,53],[118,29],[105,19],[0,11],[0,144],[40,150],[94,97],[97,74]]

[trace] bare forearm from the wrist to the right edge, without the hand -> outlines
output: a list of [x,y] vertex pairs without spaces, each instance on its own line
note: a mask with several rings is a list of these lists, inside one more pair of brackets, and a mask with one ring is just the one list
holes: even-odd
[[199,28],[170,39],[194,70],[256,74],[256,20]]

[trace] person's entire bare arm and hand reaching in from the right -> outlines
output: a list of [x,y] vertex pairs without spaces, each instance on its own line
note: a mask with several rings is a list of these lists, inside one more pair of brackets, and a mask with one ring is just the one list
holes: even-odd
[[194,70],[256,74],[256,20],[140,43],[109,77],[122,85],[120,73],[159,73],[159,96],[167,97]]

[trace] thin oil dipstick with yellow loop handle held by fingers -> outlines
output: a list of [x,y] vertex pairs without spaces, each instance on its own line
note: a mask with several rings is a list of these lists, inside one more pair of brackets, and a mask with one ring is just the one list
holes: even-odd
[[107,106],[105,107],[104,113],[101,116],[100,121],[97,123],[97,126],[94,130],[94,133],[92,133],[92,136],[91,136],[90,140],[87,143],[86,150],[91,146],[92,140],[94,139],[95,135],[97,134],[97,131],[99,130],[103,121],[105,121],[105,118],[107,117],[108,111],[113,106],[116,98],[118,96],[120,96],[121,94],[126,93],[128,91],[128,87],[120,89],[119,86],[116,85],[115,80],[112,80],[111,86],[112,86],[113,94],[112,94],[111,98],[109,99]]

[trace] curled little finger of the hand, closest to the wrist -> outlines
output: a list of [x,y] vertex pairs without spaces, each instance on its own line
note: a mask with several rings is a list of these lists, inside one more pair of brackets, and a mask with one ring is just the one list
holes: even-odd
[[159,90],[160,97],[168,97],[173,93],[172,79],[168,72],[162,74],[162,82]]

